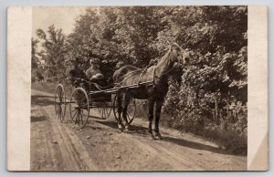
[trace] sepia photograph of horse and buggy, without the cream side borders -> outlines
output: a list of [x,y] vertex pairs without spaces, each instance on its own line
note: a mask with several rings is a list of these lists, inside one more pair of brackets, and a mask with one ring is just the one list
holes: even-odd
[[248,170],[248,6],[32,8],[30,171]]

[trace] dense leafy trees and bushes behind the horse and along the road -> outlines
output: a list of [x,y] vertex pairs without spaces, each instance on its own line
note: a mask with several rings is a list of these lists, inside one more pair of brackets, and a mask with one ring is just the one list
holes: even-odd
[[[68,77],[68,59],[79,57],[87,69],[88,60],[98,57],[111,77],[117,62],[143,68],[177,42],[189,51],[191,64],[176,65],[169,79],[163,105],[169,125],[204,136],[217,131],[223,141],[233,136],[246,151],[247,31],[247,6],[126,6],[87,8],[68,36],[54,26],[37,36],[45,75],[56,79]],[[227,148],[236,145],[231,142]]]

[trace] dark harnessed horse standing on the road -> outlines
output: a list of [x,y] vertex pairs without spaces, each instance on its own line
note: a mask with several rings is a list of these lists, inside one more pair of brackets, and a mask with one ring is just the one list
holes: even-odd
[[[149,127],[148,132],[151,137],[155,139],[162,139],[159,131],[159,120],[161,109],[163,106],[164,97],[168,91],[168,78],[174,68],[174,63],[180,62],[183,65],[189,63],[189,54],[182,47],[173,44],[169,47],[167,52],[161,57],[155,66],[148,68],[136,68],[131,65],[123,66],[117,69],[113,74],[114,83],[116,87],[127,88],[127,86],[139,85],[132,89],[120,89],[117,92],[117,109],[118,109],[118,130],[129,130],[129,123],[126,118],[127,107],[131,99],[148,99],[149,109]],[[123,101],[123,102],[122,102]],[[123,103],[123,104],[122,104]],[[123,105],[123,108],[122,106]],[[153,112],[155,105],[155,125],[153,135]],[[121,122],[122,118],[125,125]]]

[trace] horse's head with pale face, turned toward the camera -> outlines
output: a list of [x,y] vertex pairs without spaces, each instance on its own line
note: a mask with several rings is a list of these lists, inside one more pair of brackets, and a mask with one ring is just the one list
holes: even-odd
[[173,62],[180,62],[183,65],[189,65],[189,52],[184,50],[178,44],[174,43],[170,47],[171,59]]

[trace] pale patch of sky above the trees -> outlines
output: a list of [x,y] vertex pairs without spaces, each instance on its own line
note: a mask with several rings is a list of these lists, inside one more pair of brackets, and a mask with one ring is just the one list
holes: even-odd
[[62,28],[65,35],[73,31],[75,19],[84,14],[85,7],[35,7],[33,8],[32,36],[36,38],[36,31],[41,28],[47,31],[48,26]]

